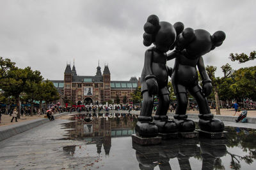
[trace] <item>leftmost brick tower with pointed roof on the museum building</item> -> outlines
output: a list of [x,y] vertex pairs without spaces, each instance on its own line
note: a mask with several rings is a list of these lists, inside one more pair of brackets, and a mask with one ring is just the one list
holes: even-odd
[[67,64],[64,71],[64,96],[71,100],[72,71],[70,64]]

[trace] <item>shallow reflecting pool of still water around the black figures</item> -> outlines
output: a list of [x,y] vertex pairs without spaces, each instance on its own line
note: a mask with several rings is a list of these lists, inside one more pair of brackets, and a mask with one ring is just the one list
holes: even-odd
[[227,139],[171,139],[160,145],[132,143],[138,117],[77,114],[63,124],[70,158],[93,157],[85,169],[256,169],[256,130],[226,127]]

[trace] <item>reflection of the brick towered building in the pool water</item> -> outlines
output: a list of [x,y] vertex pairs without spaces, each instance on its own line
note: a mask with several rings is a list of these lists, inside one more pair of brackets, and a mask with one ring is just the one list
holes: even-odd
[[[134,134],[134,125],[138,121],[136,116],[129,114],[77,114],[70,119],[72,121],[63,124],[68,129],[65,139],[83,140],[87,144],[96,144],[98,155],[101,153],[102,145],[105,155],[109,155],[111,138]],[[63,150],[74,155],[76,146],[65,146]]]

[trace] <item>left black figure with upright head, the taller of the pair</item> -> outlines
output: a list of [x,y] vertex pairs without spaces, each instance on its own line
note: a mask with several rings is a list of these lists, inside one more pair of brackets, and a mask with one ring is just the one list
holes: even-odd
[[[144,25],[143,44],[150,46],[154,43],[155,46],[146,50],[141,73],[143,103],[136,124],[136,133],[142,137],[154,137],[158,132],[166,134],[177,131],[175,122],[168,120],[166,116],[170,104],[168,75],[172,74],[172,69],[166,66],[166,52],[175,42],[176,35],[183,29],[184,25],[181,22],[174,25],[169,22],[159,22],[156,15],[150,15]],[[159,106],[152,122],[155,95],[159,97]]]

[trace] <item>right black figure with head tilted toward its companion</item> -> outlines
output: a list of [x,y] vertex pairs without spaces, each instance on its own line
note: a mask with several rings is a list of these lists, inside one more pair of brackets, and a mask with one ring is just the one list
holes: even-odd
[[[199,126],[202,131],[223,132],[224,124],[214,119],[207,103],[206,97],[211,94],[212,85],[205,71],[202,55],[220,46],[225,39],[223,31],[217,31],[212,36],[204,29],[193,30],[186,28],[179,34],[175,42],[175,50],[168,54],[168,60],[175,58],[173,67],[172,85],[177,96],[175,122],[179,132],[195,130],[192,120],[187,120],[186,108],[188,104],[187,91],[196,99],[199,108]],[[198,73],[202,77],[203,87],[198,85]]]

